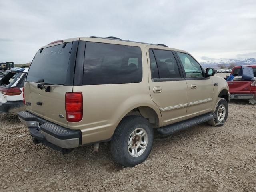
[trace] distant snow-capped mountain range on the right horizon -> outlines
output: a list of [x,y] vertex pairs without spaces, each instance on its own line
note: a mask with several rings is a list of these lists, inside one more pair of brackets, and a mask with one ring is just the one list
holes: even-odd
[[223,65],[225,67],[229,67],[231,65],[252,65],[256,64],[255,58],[248,58],[244,60],[239,59],[219,59],[219,60],[212,60],[212,61],[206,61],[200,63],[204,68],[206,67],[213,67],[213,68],[219,68],[220,65]]

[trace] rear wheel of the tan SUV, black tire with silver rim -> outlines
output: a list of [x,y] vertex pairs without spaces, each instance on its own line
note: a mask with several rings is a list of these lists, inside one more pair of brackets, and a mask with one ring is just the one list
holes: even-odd
[[123,166],[135,166],[146,160],[153,140],[153,127],[148,120],[141,116],[127,116],[118,124],[112,137],[112,156]]

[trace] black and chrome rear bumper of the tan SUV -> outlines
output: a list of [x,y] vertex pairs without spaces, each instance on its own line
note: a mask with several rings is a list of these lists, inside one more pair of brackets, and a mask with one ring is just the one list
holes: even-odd
[[18,112],[18,117],[28,127],[34,143],[67,153],[82,142],[80,130],[64,128],[27,111]]

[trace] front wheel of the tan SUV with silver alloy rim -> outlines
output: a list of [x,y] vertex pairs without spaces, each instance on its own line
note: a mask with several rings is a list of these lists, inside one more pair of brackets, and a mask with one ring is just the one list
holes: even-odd
[[223,126],[228,118],[228,102],[224,98],[218,98],[214,113],[216,114],[216,118],[208,121],[208,124],[215,127]]

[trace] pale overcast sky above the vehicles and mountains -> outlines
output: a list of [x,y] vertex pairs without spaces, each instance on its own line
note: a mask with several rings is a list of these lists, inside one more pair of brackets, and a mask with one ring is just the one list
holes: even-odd
[[116,36],[204,62],[256,58],[256,0],[0,0],[0,62],[30,62],[54,40]]

